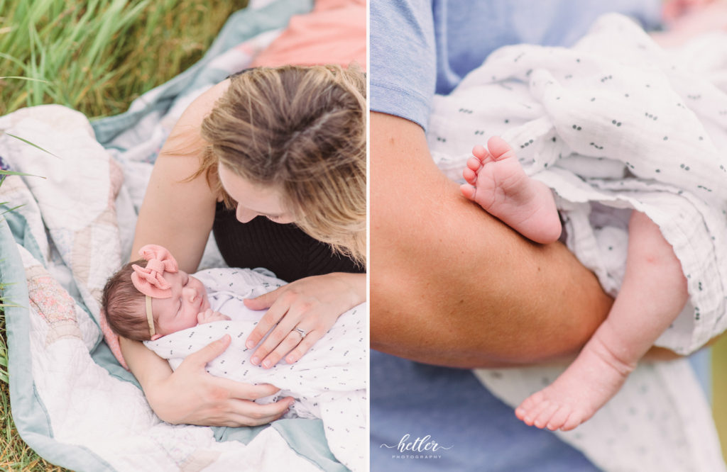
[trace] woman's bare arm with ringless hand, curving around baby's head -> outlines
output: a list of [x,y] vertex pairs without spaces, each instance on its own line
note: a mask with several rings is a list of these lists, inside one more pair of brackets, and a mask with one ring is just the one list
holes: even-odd
[[[198,168],[205,142],[201,122],[228,86],[217,84],[198,97],[180,117],[156,160],[139,211],[132,259],[145,244],[160,244],[174,254],[180,268],[195,272],[212,230],[216,195],[204,175],[189,181]],[[224,338],[223,338],[224,339]],[[215,341],[188,356],[174,372],[169,364],[137,341],[121,339],[121,352],[159,418],[169,423],[206,426],[252,426],[282,415],[290,397],[268,405],[251,400],[277,388],[251,386],[216,378],[204,370],[229,346]]]

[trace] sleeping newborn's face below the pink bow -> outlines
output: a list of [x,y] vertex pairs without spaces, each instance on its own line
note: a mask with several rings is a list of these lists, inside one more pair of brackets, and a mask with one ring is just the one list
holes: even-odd
[[160,336],[196,326],[197,314],[209,308],[204,285],[187,272],[164,272],[164,279],[172,285],[172,296],[151,299],[156,333]]

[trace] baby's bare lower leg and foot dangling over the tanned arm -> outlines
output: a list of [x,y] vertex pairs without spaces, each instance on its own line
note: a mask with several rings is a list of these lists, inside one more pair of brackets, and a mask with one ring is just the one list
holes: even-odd
[[515,415],[529,426],[568,431],[619,391],[638,359],[686,304],[681,264],[659,227],[633,211],[626,273],[614,306],[578,357]]

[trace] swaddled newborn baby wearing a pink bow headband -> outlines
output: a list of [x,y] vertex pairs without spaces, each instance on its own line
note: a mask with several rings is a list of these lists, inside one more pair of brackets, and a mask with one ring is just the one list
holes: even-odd
[[[144,259],[126,264],[104,288],[102,306],[114,333],[145,341],[149,349],[169,359],[172,368],[186,355],[230,335],[230,347],[206,370],[235,381],[281,388],[278,396],[296,399],[286,418],[321,418],[337,459],[348,468],[364,470],[365,309],[358,306],[342,314],[298,362],[265,369],[250,362],[252,349],[244,346],[264,312],[247,308],[243,301],[285,282],[251,269],[209,269],[192,276],[178,269],[174,257],[158,245],[144,246],[140,255]],[[306,335],[295,331],[301,339]]]

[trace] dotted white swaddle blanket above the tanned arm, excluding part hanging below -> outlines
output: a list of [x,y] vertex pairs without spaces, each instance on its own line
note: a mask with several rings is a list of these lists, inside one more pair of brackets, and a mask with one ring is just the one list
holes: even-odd
[[526,173],[558,195],[569,249],[612,295],[629,214],[612,208],[646,213],[690,295],[656,344],[688,354],[727,327],[726,127],[725,91],[611,15],[572,49],[497,50],[437,97],[428,135],[457,179],[473,145],[496,134],[510,142]]

